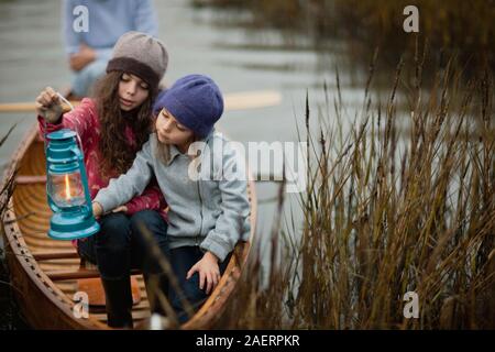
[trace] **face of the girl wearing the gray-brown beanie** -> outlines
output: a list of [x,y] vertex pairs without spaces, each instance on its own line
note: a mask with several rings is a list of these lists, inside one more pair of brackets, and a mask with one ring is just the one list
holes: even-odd
[[119,82],[120,108],[124,111],[141,106],[150,95],[148,85],[140,77],[123,73]]

